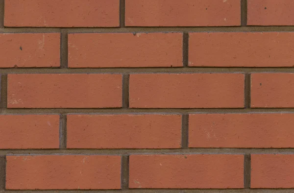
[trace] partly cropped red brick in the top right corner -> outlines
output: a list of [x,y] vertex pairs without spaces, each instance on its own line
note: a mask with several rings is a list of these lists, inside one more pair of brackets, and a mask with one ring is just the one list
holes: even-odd
[[248,25],[294,25],[293,0],[248,0]]

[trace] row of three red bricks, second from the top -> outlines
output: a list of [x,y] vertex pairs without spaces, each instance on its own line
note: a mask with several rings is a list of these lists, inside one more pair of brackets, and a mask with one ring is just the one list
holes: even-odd
[[[189,33],[189,67],[293,67],[293,32]],[[60,67],[59,33],[0,34],[0,68]],[[70,33],[69,68],[183,67],[183,33]]]

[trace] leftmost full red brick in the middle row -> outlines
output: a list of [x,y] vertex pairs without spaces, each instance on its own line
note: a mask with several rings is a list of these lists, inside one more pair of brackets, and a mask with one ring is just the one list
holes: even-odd
[[8,74],[8,108],[122,107],[121,74]]

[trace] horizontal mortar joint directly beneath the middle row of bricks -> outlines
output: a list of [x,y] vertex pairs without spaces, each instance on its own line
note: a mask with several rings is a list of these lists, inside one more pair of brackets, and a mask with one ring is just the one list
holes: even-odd
[[218,109],[1,109],[1,114],[193,114],[193,113],[294,113],[294,108],[218,108]]

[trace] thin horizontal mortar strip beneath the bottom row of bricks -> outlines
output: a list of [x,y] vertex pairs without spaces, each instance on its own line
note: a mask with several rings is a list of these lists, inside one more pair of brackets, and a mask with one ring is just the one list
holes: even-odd
[[293,189],[0,190],[0,193],[293,193]]

